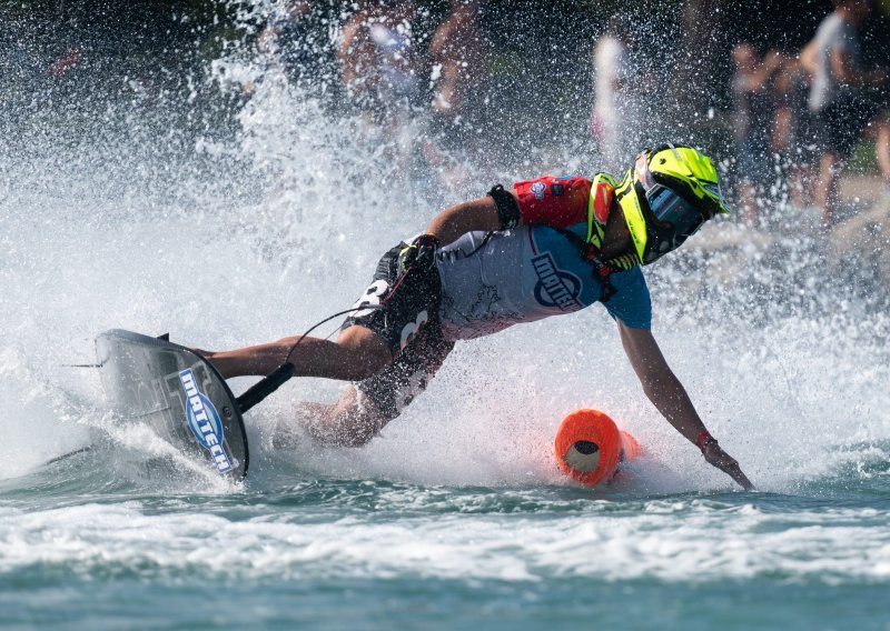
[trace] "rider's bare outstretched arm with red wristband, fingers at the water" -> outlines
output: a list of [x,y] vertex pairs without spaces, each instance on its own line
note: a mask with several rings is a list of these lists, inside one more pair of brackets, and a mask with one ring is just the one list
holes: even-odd
[[709,463],[730,475],[743,489],[753,488],[735,459],[721,449],[704,427],[686,390],[668,365],[652,331],[632,329],[619,322],[619,332],[643,391],[659,412],[686,440],[702,450]]

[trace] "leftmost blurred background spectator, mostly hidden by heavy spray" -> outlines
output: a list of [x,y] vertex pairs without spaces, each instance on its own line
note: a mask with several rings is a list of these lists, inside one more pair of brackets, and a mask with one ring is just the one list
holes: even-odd
[[332,33],[318,3],[287,0],[280,13],[259,36],[259,48],[280,63],[291,83],[328,93],[339,77],[334,63]]

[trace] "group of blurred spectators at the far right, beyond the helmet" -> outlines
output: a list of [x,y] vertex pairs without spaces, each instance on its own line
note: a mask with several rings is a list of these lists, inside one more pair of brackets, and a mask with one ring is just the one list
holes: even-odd
[[837,2],[798,54],[760,54],[749,42],[733,49],[738,199],[746,220],[763,214],[771,189],[787,179],[793,206],[818,208],[823,226],[835,224],[839,178],[863,136],[890,183],[890,72],[866,69],[859,34],[873,9],[868,0]]

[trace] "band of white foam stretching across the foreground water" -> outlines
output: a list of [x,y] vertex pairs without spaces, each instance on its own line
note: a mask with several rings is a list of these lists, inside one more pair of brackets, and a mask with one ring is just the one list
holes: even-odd
[[438,515],[397,521],[270,514],[235,521],[138,502],[0,512],[0,571],[34,565],[146,578],[386,578],[538,581],[590,577],[702,582],[878,582],[890,577],[890,528],[871,509],[801,511],[656,501],[615,515]]

